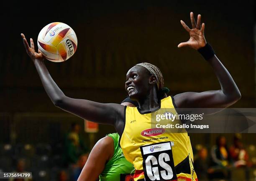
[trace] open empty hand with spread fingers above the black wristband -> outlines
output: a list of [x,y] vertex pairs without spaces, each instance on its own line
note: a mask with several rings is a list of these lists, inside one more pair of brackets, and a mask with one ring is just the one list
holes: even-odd
[[190,19],[192,24],[192,29],[190,29],[184,21],[180,20],[180,23],[184,27],[185,30],[190,35],[190,38],[187,42],[179,43],[178,48],[181,47],[191,47],[196,50],[202,48],[206,45],[204,30],[205,30],[205,23],[202,23],[201,27],[201,15],[197,15],[197,24],[195,23],[195,18],[193,12],[190,13]]

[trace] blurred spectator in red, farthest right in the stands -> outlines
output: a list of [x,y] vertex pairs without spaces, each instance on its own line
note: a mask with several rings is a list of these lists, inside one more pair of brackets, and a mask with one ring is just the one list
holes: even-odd
[[234,143],[229,148],[230,158],[233,162],[234,167],[250,166],[251,163],[248,161],[249,156],[247,151],[243,148],[241,141],[241,134],[236,134],[233,139]]

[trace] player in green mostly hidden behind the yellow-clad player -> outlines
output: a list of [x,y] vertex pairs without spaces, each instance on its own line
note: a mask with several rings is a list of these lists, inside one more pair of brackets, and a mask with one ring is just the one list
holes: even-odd
[[[123,106],[138,106],[136,101],[125,98]],[[134,168],[123,156],[118,133],[101,138],[89,155],[77,181],[133,181]]]

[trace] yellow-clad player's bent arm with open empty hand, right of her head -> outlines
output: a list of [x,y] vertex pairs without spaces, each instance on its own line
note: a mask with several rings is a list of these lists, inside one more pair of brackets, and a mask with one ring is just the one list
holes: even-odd
[[[193,13],[190,13],[190,18],[192,29],[181,20],[184,29],[189,32],[190,39],[187,42],[180,43],[178,47],[189,46],[198,50],[206,45],[204,36],[205,23],[202,23],[201,27],[201,15],[197,16],[197,24]],[[221,89],[201,93],[186,92],[178,94],[174,96],[174,101],[178,108],[226,108],[241,98],[241,93],[235,81],[216,55],[212,55],[207,61],[212,66]]]

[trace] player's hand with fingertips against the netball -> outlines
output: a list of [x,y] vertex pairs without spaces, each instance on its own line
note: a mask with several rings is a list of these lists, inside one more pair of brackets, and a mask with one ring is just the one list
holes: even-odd
[[33,60],[33,62],[35,60],[41,60],[43,61],[44,60],[44,56],[42,55],[42,53],[40,53],[39,49],[38,49],[38,53],[35,51],[35,46],[34,46],[34,42],[33,42],[33,39],[30,38],[30,46],[28,45],[28,42],[25,38],[25,35],[24,34],[20,34],[22,39],[23,39],[23,44],[26,48],[26,51],[28,53],[28,55],[30,56],[30,58]]

